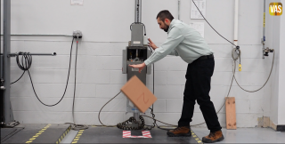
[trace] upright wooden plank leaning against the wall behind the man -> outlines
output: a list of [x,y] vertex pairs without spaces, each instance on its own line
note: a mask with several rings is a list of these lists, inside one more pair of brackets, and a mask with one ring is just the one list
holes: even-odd
[[236,130],[237,120],[235,114],[235,98],[228,97],[225,98],[225,117],[226,117],[226,129]]

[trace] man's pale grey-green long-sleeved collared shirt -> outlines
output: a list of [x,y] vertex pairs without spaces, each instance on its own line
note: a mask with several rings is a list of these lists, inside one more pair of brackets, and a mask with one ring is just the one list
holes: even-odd
[[166,42],[144,60],[145,65],[148,66],[167,55],[180,56],[185,62],[191,63],[200,56],[213,54],[199,32],[180,20],[171,21],[167,35]]

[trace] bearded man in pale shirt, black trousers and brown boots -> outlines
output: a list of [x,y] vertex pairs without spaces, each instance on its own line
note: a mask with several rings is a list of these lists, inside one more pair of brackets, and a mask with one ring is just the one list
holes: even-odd
[[210,130],[209,135],[203,137],[202,141],[224,140],[214,104],[209,97],[211,76],[213,76],[215,67],[212,50],[198,31],[180,20],[175,20],[167,10],[159,12],[157,20],[159,28],[167,32],[166,42],[158,47],[149,39],[149,45],[155,51],[142,64],[130,65],[130,67],[139,68],[139,72],[141,72],[145,66],[161,60],[167,55],[180,56],[188,63],[182,116],[178,121],[178,127],[168,131],[167,135],[170,137],[191,136],[190,122],[195,100],[197,100],[208,130]]

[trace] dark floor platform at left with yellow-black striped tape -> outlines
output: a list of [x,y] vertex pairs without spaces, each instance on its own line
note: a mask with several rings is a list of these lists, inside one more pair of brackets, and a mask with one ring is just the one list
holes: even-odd
[[19,124],[1,129],[1,143],[60,143],[70,124]]

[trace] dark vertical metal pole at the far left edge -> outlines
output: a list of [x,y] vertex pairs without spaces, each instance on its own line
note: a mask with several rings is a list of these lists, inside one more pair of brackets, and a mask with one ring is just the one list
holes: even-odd
[[4,123],[13,121],[10,101],[11,0],[4,0]]

